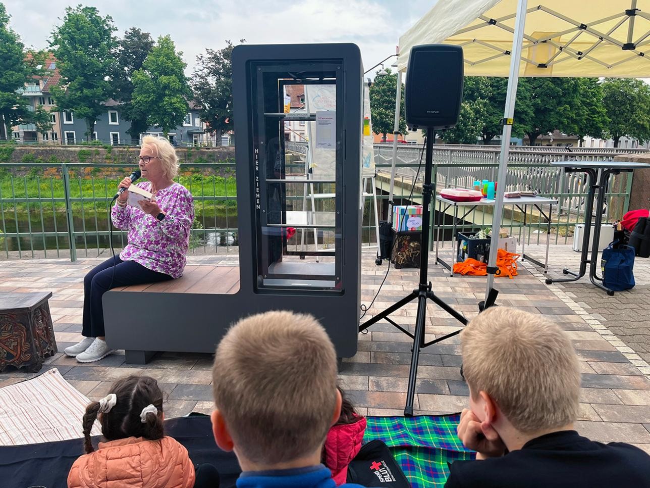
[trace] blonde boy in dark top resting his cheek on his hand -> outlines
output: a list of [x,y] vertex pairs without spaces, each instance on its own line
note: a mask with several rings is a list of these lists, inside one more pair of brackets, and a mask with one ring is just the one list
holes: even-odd
[[580,372],[571,341],[543,316],[493,307],[461,332],[469,409],[445,487],[650,487],[650,456],[573,429]]

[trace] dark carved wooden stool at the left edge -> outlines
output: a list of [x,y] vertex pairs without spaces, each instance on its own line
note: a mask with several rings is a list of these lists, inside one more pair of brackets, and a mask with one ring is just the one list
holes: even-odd
[[0,292],[0,372],[7,366],[38,373],[57,353],[47,299],[51,291]]

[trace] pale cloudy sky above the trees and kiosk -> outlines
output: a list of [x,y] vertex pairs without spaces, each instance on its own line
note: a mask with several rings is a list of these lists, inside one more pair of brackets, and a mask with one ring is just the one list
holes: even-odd
[[[68,5],[64,0],[0,0],[10,25],[26,46],[47,47],[47,38]],[[220,49],[224,40],[248,44],[354,42],[370,68],[395,53],[400,34],[427,12],[434,0],[112,0],[86,1],[110,15],[118,34],[139,27],[156,38],[171,34],[190,75],[196,55]],[[387,64],[389,66],[392,63]]]

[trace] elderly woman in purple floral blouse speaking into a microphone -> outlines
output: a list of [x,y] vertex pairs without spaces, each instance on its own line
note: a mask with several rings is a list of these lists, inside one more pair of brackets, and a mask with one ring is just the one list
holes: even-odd
[[[94,267],[85,276],[83,329],[79,344],[66,347],[68,356],[79,362],[93,362],[109,355],[105,341],[101,296],[117,286],[154,283],[183,275],[190,228],[194,221],[192,195],[174,182],[178,158],[166,139],[146,136],[138,164],[147,182],[137,186],[153,193],[150,202],[142,200],[135,208],[127,205],[128,191],[118,197],[110,218],[120,229],[128,230],[128,243],[120,256]],[[124,178],[119,188],[128,188]]]

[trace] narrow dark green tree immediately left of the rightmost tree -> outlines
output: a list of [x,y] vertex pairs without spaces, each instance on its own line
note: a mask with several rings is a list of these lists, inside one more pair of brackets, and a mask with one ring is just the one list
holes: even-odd
[[575,107],[576,126],[571,133],[579,144],[585,136],[602,139],[609,122],[603,105],[603,87],[597,78],[578,78],[578,105]]

